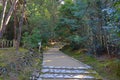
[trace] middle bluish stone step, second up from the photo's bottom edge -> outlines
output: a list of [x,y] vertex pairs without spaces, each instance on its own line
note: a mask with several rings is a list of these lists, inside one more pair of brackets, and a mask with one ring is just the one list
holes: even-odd
[[81,69],[42,69],[42,73],[57,73],[57,74],[95,74],[92,70],[81,70]]

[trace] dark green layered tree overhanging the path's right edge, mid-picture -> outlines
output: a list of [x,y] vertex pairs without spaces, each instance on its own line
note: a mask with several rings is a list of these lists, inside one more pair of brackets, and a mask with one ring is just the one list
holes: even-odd
[[83,37],[85,34],[83,33],[83,28],[85,29],[83,18],[85,18],[87,6],[86,1],[77,0],[74,3],[72,0],[65,0],[65,4],[59,9],[60,19],[56,28],[57,33],[69,41],[73,49],[83,47],[86,41]]

